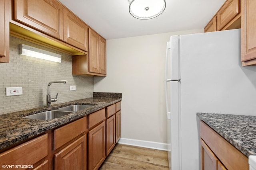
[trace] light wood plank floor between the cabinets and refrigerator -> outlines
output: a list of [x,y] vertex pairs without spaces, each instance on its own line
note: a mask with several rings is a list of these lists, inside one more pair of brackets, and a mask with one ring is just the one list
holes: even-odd
[[166,151],[116,144],[99,170],[169,170]]

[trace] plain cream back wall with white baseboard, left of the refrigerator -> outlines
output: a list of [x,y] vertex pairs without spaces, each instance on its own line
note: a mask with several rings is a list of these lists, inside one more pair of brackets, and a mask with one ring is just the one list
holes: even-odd
[[122,141],[164,149],[164,67],[171,35],[203,29],[107,40],[107,77],[94,78],[94,92],[122,92]]

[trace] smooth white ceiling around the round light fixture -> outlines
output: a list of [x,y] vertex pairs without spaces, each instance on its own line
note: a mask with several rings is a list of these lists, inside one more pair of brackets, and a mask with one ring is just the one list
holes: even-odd
[[150,20],[129,13],[128,0],[60,0],[105,39],[200,29],[225,0],[166,0],[164,12]]

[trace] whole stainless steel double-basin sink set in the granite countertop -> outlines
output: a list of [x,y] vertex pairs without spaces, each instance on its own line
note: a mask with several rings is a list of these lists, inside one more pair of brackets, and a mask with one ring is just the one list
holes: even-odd
[[77,111],[86,109],[91,106],[94,106],[94,105],[84,105],[84,104],[70,105],[70,106],[58,108],[56,110],[44,111],[41,113],[36,113],[34,115],[25,116],[23,118],[37,119],[37,120],[51,120],[55,118],[60,118],[70,113],[75,113]]

